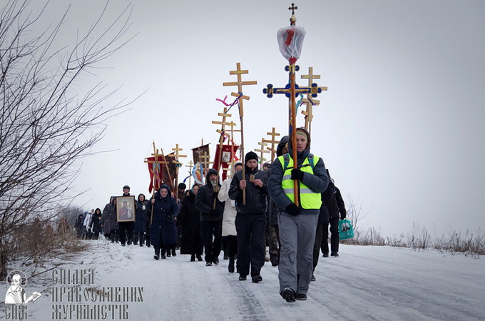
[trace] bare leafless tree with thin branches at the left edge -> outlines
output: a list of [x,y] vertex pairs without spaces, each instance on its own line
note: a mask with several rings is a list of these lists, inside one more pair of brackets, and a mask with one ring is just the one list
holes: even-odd
[[85,92],[75,86],[131,40],[131,9],[101,27],[106,4],[86,35],[61,49],[56,37],[69,9],[40,35],[34,30],[45,6],[36,16],[29,1],[11,0],[0,9],[0,278],[12,233],[70,201],[65,193],[79,173],[79,158],[102,138],[106,119],[128,104],[103,106],[117,90],[106,92],[102,82]]

